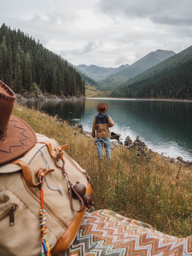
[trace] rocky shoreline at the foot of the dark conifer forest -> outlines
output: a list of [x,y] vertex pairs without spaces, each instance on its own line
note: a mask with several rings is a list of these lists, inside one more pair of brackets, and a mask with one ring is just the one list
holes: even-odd
[[17,101],[46,101],[46,100],[60,100],[60,101],[79,101],[85,100],[84,96],[65,96],[65,95],[54,95],[54,94],[46,94],[38,91],[38,93],[30,93],[24,92],[22,94],[16,94]]

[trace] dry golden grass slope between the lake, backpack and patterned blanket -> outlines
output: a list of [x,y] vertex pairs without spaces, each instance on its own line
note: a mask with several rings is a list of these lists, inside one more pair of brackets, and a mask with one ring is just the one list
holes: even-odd
[[57,122],[19,104],[15,104],[13,114],[35,132],[69,145],[67,154],[87,170],[94,182],[95,209],[112,209],[171,235],[191,235],[191,170],[181,168],[177,178],[178,166],[160,159],[157,153],[152,153],[151,159],[138,158],[125,148],[112,151],[110,164],[106,159],[100,162],[93,140],[79,131],[74,135],[67,122]]

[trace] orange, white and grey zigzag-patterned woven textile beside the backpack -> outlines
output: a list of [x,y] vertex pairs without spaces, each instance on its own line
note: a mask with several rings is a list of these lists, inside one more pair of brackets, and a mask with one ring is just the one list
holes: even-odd
[[177,238],[110,210],[88,213],[76,239],[59,256],[192,256],[192,236]]

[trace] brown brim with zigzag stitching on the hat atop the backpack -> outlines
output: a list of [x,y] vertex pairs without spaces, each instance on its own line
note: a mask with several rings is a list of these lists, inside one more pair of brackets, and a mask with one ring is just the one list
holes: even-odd
[[5,140],[0,141],[0,165],[21,157],[36,141],[35,131],[22,119],[11,115]]

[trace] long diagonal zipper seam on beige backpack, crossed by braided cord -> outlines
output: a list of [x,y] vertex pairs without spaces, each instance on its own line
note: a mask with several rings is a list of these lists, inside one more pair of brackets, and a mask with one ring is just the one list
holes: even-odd
[[[31,194],[31,196],[40,204],[41,206],[41,199],[40,199],[40,193],[39,195],[37,195],[35,193],[35,191],[27,184],[27,182],[25,181],[24,177],[22,177],[22,181],[24,183],[24,186],[26,188],[26,190],[29,192],[29,194]],[[46,200],[44,200],[44,209],[46,210],[46,212],[49,213],[49,215],[52,216],[53,219],[55,219],[60,225],[61,227],[63,227],[64,229],[66,229],[68,227],[67,223],[61,218],[59,217],[56,213],[57,210],[56,209],[52,209],[52,206],[49,205],[49,203],[46,202]]]

